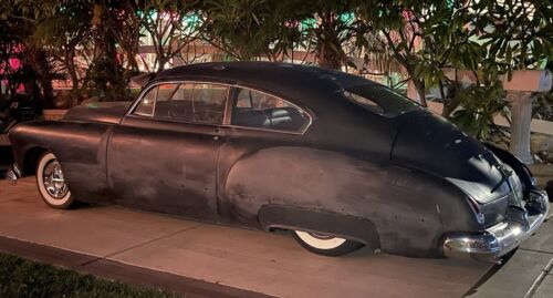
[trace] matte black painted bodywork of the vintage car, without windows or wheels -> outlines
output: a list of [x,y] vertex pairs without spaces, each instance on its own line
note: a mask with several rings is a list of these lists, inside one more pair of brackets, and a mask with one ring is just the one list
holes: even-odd
[[[150,84],[175,80],[262,90],[311,111],[313,123],[301,135],[124,116],[126,105],[95,104],[61,122],[14,127],[18,165],[42,147],[59,157],[77,199],[304,228],[408,256],[439,256],[447,233],[482,232],[507,212],[505,189],[489,194],[500,177],[484,146],[422,109],[385,117],[345,100],[344,88],[372,84],[358,76],[284,63],[206,63],[164,71]],[[459,181],[483,186],[474,193]],[[480,199],[484,225],[469,196]],[[355,223],[366,225],[352,229]]]

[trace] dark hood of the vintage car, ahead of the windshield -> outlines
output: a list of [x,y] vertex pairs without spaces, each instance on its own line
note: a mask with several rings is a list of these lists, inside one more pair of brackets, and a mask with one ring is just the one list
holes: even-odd
[[95,102],[71,109],[64,121],[105,122],[117,124],[132,102]]

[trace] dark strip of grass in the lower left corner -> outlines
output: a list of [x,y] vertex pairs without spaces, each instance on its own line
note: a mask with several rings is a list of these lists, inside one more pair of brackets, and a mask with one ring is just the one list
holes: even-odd
[[169,298],[179,296],[159,289],[132,287],[118,281],[0,254],[0,297]]

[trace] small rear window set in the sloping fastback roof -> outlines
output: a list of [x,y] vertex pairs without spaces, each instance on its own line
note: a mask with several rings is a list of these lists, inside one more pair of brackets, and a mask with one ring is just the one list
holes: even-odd
[[384,116],[396,116],[421,109],[418,103],[408,97],[394,92],[389,88],[376,84],[346,88],[344,96]]

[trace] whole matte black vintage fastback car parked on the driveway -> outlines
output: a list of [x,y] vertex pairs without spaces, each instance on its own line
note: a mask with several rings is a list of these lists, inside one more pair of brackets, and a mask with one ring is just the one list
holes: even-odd
[[153,74],[132,104],[17,125],[10,177],[44,202],[114,202],[290,230],[311,251],[368,246],[499,261],[544,220],[528,168],[390,89],[270,62]]

